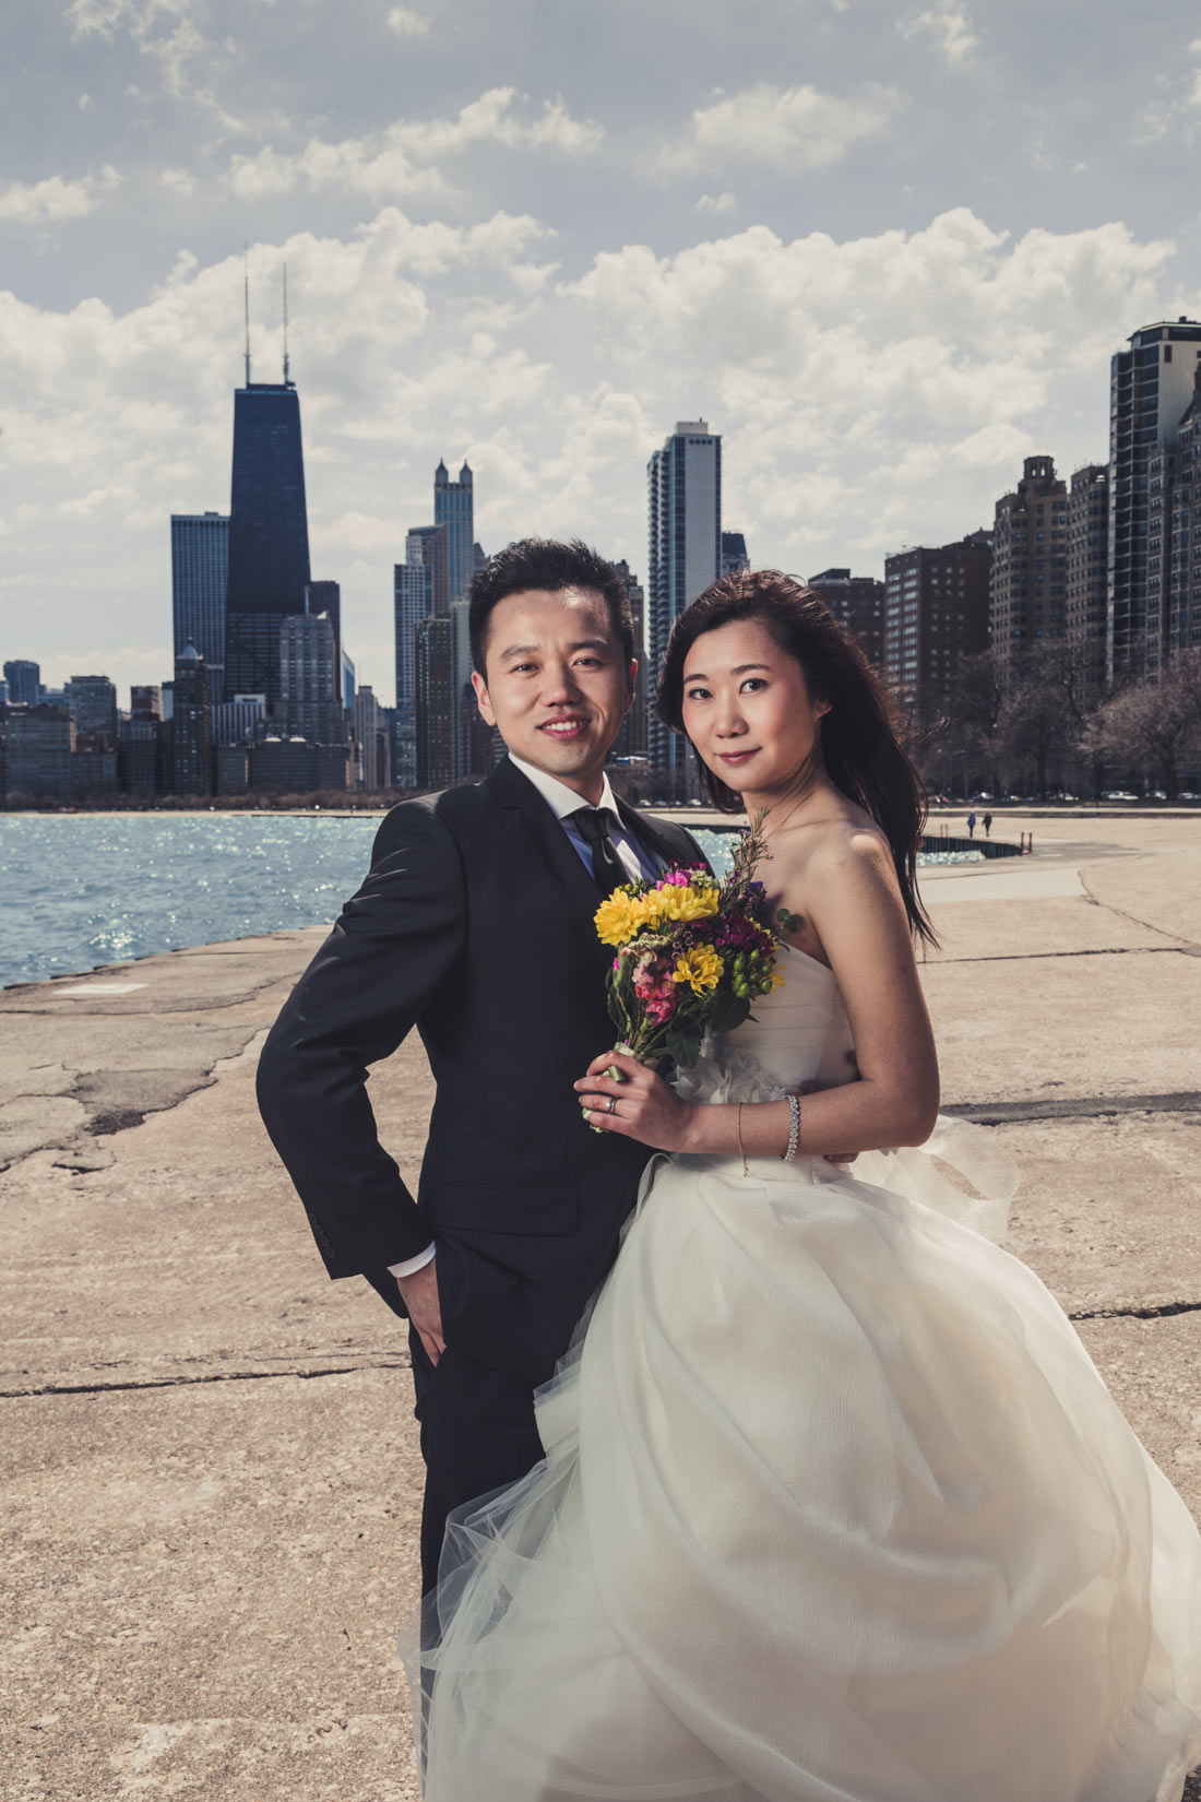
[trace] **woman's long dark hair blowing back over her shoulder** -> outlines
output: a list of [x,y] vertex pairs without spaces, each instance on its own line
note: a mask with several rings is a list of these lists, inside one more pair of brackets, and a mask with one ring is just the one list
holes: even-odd
[[[819,724],[826,775],[848,800],[871,815],[888,838],[909,932],[924,944],[936,944],[917,890],[926,786],[897,737],[891,696],[819,595],[780,569],[736,569],[709,584],[672,627],[659,670],[659,719],[672,732],[684,733],[688,652],[704,633],[735,620],[760,620],[780,649],[801,665],[810,696],[830,703]],[[695,744],[693,753],[713,805],[722,813],[742,813],[742,796],[713,775]]]

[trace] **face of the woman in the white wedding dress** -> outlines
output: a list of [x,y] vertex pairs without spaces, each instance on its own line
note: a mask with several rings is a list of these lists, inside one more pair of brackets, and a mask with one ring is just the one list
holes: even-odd
[[684,730],[715,777],[740,793],[787,787],[821,739],[830,703],[762,620],[702,633],[684,660]]

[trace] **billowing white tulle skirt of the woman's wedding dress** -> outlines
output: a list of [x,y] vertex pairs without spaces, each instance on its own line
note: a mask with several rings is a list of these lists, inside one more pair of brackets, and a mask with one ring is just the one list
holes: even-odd
[[949,1121],[652,1164],[402,1642],[425,1802],[1179,1802],[1201,1537],[992,1243],[1012,1186]]

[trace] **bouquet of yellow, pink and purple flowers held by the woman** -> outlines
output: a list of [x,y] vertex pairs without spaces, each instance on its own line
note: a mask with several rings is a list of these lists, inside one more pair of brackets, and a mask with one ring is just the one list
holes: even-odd
[[690,1070],[706,1029],[733,1033],[751,1004],[783,980],[763,885],[754,881],[763,851],[754,820],[726,881],[677,867],[655,881],[625,883],[598,906],[600,941],[616,948],[609,1016],[621,1049],[639,1063],[654,1069],[672,1058]]

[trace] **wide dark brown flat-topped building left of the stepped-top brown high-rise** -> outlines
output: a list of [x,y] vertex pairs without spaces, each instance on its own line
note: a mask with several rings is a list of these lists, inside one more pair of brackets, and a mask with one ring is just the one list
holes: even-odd
[[989,532],[884,559],[884,676],[902,706],[945,696],[989,643]]

